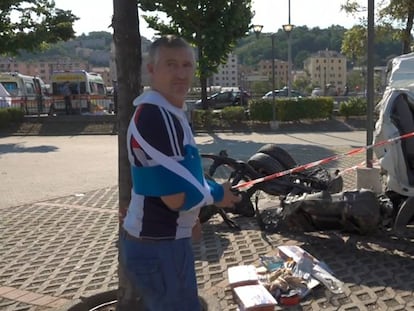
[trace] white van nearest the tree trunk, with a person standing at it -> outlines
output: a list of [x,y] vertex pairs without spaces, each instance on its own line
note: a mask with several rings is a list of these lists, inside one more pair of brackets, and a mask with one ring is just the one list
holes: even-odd
[[68,83],[72,113],[97,114],[112,112],[112,101],[107,96],[102,76],[85,70],[56,71],[52,73],[53,112],[65,111],[64,90]]

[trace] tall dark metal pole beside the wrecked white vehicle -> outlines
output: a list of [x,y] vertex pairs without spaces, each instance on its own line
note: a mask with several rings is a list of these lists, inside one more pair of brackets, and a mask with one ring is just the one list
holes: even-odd
[[[367,39],[367,146],[373,141],[374,133],[374,0],[368,0]],[[367,149],[366,166],[372,168],[373,150]]]

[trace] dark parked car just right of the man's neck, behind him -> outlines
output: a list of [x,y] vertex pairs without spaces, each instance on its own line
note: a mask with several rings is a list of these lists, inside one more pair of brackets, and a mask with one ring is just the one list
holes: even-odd
[[[225,91],[207,97],[207,108],[222,109],[228,106],[247,106],[250,94],[246,91]],[[202,109],[201,99],[195,102],[196,109]]]

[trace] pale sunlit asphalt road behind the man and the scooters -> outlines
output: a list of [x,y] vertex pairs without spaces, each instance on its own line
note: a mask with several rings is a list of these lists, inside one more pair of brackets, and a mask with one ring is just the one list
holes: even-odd
[[[309,146],[365,145],[366,132],[198,134],[201,152],[247,160],[263,144],[289,152]],[[0,138],[0,208],[82,195],[118,183],[117,136],[10,136]]]

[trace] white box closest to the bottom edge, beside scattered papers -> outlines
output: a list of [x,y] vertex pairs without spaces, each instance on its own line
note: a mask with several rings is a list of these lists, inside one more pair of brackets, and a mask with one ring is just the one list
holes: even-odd
[[234,288],[240,311],[274,311],[276,299],[260,284]]

